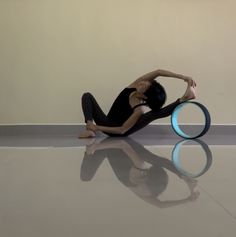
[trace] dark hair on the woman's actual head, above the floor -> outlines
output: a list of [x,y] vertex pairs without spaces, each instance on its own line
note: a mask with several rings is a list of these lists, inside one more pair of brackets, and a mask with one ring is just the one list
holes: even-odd
[[159,110],[166,101],[166,91],[164,87],[155,80],[151,82],[151,86],[144,95],[147,97],[147,105],[152,110]]

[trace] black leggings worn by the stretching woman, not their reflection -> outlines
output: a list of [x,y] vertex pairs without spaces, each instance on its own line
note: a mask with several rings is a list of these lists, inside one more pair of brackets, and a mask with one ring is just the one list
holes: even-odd
[[[179,105],[180,103],[181,102],[179,101],[179,99],[177,99],[175,102],[161,108],[159,111],[152,111],[151,110],[151,111],[143,114],[139,118],[137,123],[132,128],[130,128],[127,132],[125,132],[124,134],[111,134],[111,133],[105,133],[105,134],[112,136],[112,137],[128,136],[128,135],[144,128],[145,126],[147,126],[149,123],[151,123],[152,121],[154,121],[156,119],[164,118],[164,117],[171,115],[173,110],[175,109],[175,107],[177,105]],[[84,117],[85,117],[85,123],[87,123],[88,120],[91,120],[91,121],[94,120],[94,122],[97,125],[108,126],[108,127],[117,126],[117,124],[115,124],[113,121],[111,121],[107,117],[107,115],[102,111],[101,107],[97,103],[94,96],[89,92],[84,93],[82,96],[82,109],[83,109],[83,113],[84,113]]]

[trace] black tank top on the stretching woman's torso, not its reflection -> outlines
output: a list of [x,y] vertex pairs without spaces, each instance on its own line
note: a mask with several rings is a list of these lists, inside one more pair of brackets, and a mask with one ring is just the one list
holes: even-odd
[[115,99],[107,115],[109,120],[116,126],[121,126],[133,113],[129,104],[129,96],[135,88],[125,88]]

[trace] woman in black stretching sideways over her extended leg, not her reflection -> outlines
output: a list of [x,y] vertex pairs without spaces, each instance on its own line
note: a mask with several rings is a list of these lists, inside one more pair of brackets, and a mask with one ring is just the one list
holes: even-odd
[[[166,101],[165,89],[156,82],[157,77],[173,77],[187,83],[185,94],[162,108]],[[106,115],[89,92],[82,96],[82,109],[86,130],[79,138],[91,138],[101,131],[109,136],[128,136],[155,119],[171,115],[177,105],[196,98],[196,82],[188,76],[166,70],[155,70],[135,80],[120,92]],[[145,107],[151,109],[145,112]]]

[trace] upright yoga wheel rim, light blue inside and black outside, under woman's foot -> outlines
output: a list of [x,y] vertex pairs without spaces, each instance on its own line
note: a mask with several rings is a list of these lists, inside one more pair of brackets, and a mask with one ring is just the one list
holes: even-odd
[[[202,124],[198,125],[198,130],[200,128],[199,131],[194,131],[194,128],[189,127],[188,129],[192,129],[193,131],[185,131],[186,129],[184,129],[183,127],[181,128],[181,125],[179,123],[180,120],[180,113],[183,110],[183,107],[188,107],[190,105],[194,105],[198,112],[199,110],[201,111],[203,117],[204,117],[204,122],[202,122]],[[190,111],[191,112],[191,111]],[[193,115],[194,116],[194,115]],[[172,115],[171,115],[171,126],[174,129],[175,133],[177,135],[179,135],[180,137],[183,137],[185,139],[194,139],[194,138],[198,138],[203,136],[210,128],[211,125],[211,116],[209,111],[207,110],[207,108],[200,104],[199,102],[195,102],[195,101],[188,101],[188,102],[184,102],[179,104],[173,111]]]

